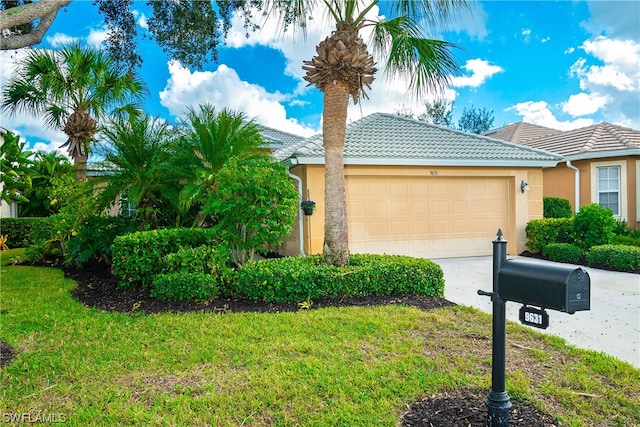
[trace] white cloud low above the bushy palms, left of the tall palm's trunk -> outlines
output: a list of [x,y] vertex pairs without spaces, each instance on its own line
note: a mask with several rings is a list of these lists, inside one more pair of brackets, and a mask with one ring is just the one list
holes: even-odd
[[176,62],[169,63],[169,80],[160,92],[160,103],[171,114],[182,116],[188,107],[199,103],[210,103],[217,108],[242,111],[257,122],[291,132],[309,136],[317,130],[310,129],[287,118],[280,93],[269,93],[263,87],[242,81],[235,70],[220,64],[216,71],[195,71]]

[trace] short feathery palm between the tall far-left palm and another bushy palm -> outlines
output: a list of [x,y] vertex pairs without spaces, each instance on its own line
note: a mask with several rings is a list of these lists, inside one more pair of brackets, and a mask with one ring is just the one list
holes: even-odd
[[158,204],[171,179],[168,162],[174,133],[168,124],[146,114],[112,119],[104,126],[97,150],[112,173],[96,178],[96,188],[104,185],[96,207],[107,208],[125,195],[141,227],[158,228]]

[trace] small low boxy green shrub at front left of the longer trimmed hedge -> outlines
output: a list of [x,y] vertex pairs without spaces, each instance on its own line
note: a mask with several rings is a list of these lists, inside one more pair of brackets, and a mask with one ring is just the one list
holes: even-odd
[[151,284],[151,296],[162,301],[206,301],[218,298],[218,285],[218,278],[211,274],[158,274]]

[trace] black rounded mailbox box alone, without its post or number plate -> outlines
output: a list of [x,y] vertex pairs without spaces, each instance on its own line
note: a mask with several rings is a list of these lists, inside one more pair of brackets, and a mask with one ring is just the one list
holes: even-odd
[[498,283],[505,301],[570,314],[590,309],[591,281],[582,268],[508,259],[500,266]]

